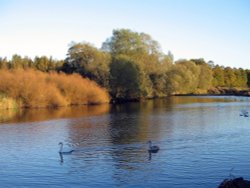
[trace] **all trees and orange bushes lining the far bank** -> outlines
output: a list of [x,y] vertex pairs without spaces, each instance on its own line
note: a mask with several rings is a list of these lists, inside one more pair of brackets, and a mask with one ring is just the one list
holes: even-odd
[[72,42],[64,60],[0,57],[0,109],[140,101],[172,95],[250,96],[250,70],[163,53],[146,33],[113,30],[100,49]]

